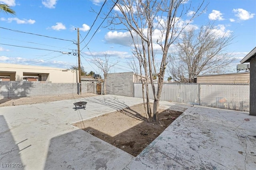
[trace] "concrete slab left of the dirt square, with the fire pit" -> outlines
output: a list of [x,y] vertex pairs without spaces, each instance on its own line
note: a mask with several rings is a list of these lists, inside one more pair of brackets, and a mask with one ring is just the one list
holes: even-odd
[[[73,103],[86,100],[86,110]],[[122,169],[134,156],[70,123],[133,106],[142,99],[98,96],[0,108],[0,169]],[[15,168],[14,168],[15,169]]]

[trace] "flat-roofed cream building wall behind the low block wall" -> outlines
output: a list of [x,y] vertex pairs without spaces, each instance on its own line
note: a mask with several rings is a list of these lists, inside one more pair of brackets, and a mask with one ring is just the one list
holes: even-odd
[[38,76],[38,81],[52,83],[78,83],[78,71],[45,66],[0,63],[0,76],[10,76],[10,81],[23,81],[23,76]]

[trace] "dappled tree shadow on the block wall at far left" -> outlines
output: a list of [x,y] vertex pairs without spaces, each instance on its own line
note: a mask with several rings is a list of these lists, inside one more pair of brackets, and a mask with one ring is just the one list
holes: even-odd
[[31,88],[34,88],[33,82],[29,81],[6,81],[0,82],[0,104],[23,97],[28,97]]

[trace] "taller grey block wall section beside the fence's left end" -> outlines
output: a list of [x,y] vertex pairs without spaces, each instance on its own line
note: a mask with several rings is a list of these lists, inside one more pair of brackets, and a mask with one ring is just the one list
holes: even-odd
[[106,93],[133,97],[133,72],[108,73]]

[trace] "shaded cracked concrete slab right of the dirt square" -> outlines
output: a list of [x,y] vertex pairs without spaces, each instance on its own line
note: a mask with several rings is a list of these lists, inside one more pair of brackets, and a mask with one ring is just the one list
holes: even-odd
[[125,169],[255,170],[255,127],[245,112],[188,107]]

